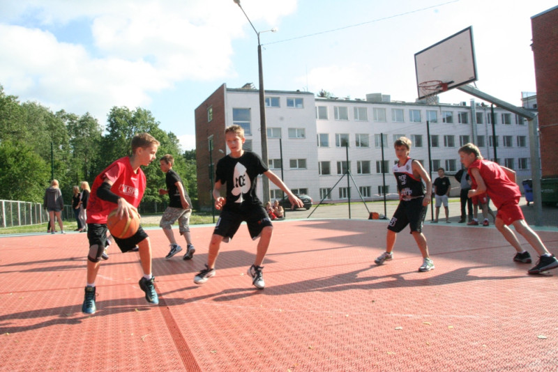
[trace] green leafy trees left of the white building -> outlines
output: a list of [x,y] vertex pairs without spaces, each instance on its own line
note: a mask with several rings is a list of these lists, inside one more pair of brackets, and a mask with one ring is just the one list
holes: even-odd
[[[159,125],[141,107],[112,107],[106,125],[101,125],[89,113],[52,112],[38,102],[20,102],[0,85],[0,199],[42,203],[50,180],[56,178],[69,204],[74,185],[82,181],[92,185],[100,171],[130,155],[135,134],[148,132],[160,141],[158,158],[174,157],[173,169],[197,206],[195,150],[182,151],[176,135]],[[142,204],[165,203],[168,196],[158,194],[159,188],[165,188],[159,162],[142,169],[147,178]]]

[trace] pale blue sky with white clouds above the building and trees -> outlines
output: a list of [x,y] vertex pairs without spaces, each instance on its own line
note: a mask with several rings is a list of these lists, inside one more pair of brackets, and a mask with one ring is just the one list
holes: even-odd
[[[265,88],[414,102],[414,54],[473,26],[481,91],[536,91],[531,17],[555,0],[241,0],[262,32]],[[149,109],[195,148],[194,109],[257,86],[257,37],[233,0],[0,0],[0,84],[53,111]],[[440,102],[472,97],[460,91]],[[478,101],[478,100],[477,100]]]

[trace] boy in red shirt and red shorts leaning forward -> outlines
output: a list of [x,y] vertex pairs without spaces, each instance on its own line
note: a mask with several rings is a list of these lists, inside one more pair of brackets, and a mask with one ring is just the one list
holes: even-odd
[[483,160],[481,151],[474,144],[462,146],[459,149],[459,156],[473,182],[469,197],[486,192],[498,209],[495,226],[518,252],[513,257],[513,261],[531,263],[531,256],[528,251],[522,249],[509,225],[513,225],[515,231],[520,233],[540,256],[538,263],[528,271],[529,274],[558,268],[558,260],[554,254],[550,254],[541,238],[525,222],[519,206],[521,192],[515,183],[515,171],[495,162]]

